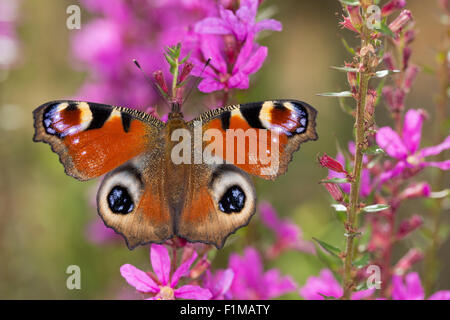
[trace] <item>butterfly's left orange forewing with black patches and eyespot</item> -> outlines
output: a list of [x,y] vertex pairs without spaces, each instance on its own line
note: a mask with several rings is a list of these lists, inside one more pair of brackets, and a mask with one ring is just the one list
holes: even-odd
[[164,127],[133,109],[77,101],[52,101],[34,112],[34,141],[50,144],[66,173],[99,177],[144,152]]

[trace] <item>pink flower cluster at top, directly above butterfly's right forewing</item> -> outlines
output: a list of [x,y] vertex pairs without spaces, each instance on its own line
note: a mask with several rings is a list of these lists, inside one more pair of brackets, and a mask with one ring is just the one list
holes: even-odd
[[234,13],[219,6],[218,17],[207,17],[195,25],[199,48],[194,55],[194,72],[199,76],[204,63],[211,58],[204,80],[199,85],[202,92],[229,89],[247,89],[249,76],[257,72],[267,57],[267,47],[255,43],[262,30],[281,31],[276,20],[255,22],[258,0],[243,0]]

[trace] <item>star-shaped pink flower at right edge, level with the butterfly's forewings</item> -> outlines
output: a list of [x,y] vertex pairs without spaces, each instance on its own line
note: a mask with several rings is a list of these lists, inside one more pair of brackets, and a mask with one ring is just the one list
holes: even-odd
[[424,111],[408,110],[403,122],[401,137],[390,127],[383,127],[378,130],[376,135],[377,144],[390,157],[398,161],[393,169],[380,175],[380,183],[399,176],[405,169],[437,167],[441,170],[450,170],[450,160],[442,162],[425,161],[425,158],[428,156],[435,156],[444,150],[450,149],[450,136],[437,146],[419,149],[424,118]]

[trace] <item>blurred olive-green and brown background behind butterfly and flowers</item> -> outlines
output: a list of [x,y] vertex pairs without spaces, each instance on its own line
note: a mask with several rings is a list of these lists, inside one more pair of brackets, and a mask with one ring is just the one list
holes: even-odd
[[[318,184],[327,173],[317,165],[316,156],[319,152],[334,155],[337,141],[346,145],[351,139],[352,119],[341,112],[337,100],[316,94],[346,90],[345,74],[330,70],[330,66],[350,59],[340,42],[341,35],[350,42],[356,40],[338,27],[338,1],[268,2],[278,8],[275,17],[283,23],[284,30],[262,40],[269,46],[269,58],[252,89],[239,96],[240,102],[273,98],[307,101],[319,111],[320,138],[301,147],[287,175],[276,182],[257,180],[258,196],[270,201],[280,215],[295,221],[306,239],[317,237],[343,247],[342,225],[330,208],[329,195]],[[23,1],[18,26],[21,61],[0,82],[0,298],[117,298],[128,287],[119,274],[122,264],[150,268],[148,247],[129,251],[122,240],[96,245],[86,239],[86,226],[99,219],[89,205],[97,182],[81,183],[66,176],[49,146],[32,142],[32,110],[43,102],[74,95],[85,77],[73,70],[70,62],[69,38],[73,31],[66,28],[66,8],[71,4],[77,2]],[[419,31],[412,46],[412,61],[434,66],[442,32],[438,8],[434,1],[423,0],[409,0],[408,7]],[[82,8],[82,23],[88,19]],[[436,92],[436,79],[422,72],[407,105],[424,108],[433,117]],[[381,104],[378,124],[391,124],[386,114]],[[426,123],[424,132],[423,143],[430,144],[433,121]],[[402,214],[425,212],[420,212],[417,204],[403,208]],[[253,218],[247,229],[260,228],[257,220],[257,216]],[[244,232],[250,231],[241,231],[230,240]],[[267,240],[264,234],[260,240]],[[420,242],[420,238],[413,238],[406,245],[420,246]],[[450,275],[446,272],[449,249],[450,244],[446,243],[439,253],[443,264],[441,289],[450,288]],[[398,247],[395,259],[406,250]],[[225,266],[229,251],[219,252],[214,266]],[[81,290],[66,288],[66,268],[73,264],[81,268]],[[324,266],[314,256],[287,252],[270,262],[269,267],[280,268],[303,285],[308,276],[318,274]]]

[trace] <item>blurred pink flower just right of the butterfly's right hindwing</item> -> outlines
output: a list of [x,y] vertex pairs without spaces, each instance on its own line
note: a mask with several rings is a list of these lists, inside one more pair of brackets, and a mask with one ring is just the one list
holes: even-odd
[[275,244],[267,251],[269,258],[275,258],[287,249],[315,253],[314,244],[302,239],[302,230],[288,219],[278,218],[275,209],[268,202],[261,203],[259,210],[262,223],[276,235]]

